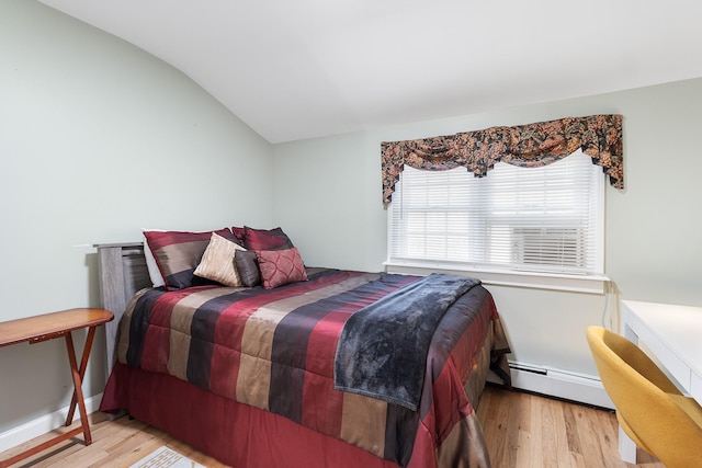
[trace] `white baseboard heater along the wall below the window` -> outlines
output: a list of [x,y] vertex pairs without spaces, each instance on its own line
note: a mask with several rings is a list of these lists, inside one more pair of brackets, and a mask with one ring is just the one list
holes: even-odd
[[614,409],[598,376],[518,362],[510,362],[509,366],[514,388]]

